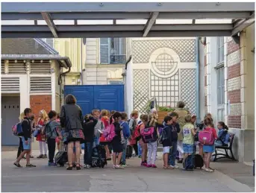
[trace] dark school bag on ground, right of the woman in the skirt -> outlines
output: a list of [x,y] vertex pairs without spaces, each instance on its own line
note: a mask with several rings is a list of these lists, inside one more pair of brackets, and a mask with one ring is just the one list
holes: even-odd
[[92,168],[104,168],[107,165],[106,151],[102,145],[96,145],[93,148],[92,154]]

